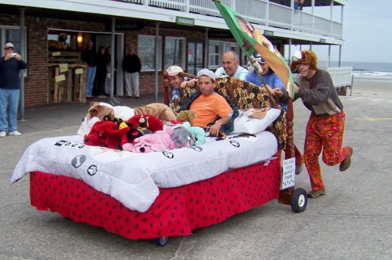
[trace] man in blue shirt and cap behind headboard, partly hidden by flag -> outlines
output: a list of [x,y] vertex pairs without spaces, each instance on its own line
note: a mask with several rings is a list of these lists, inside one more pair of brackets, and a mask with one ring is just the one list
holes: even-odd
[[[284,84],[282,80],[276,75],[276,73],[270,68],[270,66],[267,64],[267,62],[264,60],[263,57],[259,53],[256,53],[254,55],[255,60],[259,60],[259,64],[262,68],[261,74],[263,75],[263,79],[266,82],[266,84],[270,87],[271,94],[273,96],[277,95],[279,97],[279,105],[281,105],[284,109],[287,110],[287,104],[286,102],[288,93],[284,87]],[[251,66],[248,67],[251,68]],[[257,86],[263,87],[263,83],[259,76],[257,75],[256,70],[253,70],[249,74],[246,75],[247,82],[256,84]]]

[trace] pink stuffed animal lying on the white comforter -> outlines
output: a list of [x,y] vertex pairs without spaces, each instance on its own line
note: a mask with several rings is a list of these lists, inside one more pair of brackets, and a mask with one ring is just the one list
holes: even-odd
[[171,134],[173,129],[167,127],[166,130],[158,130],[154,133],[143,135],[134,140],[132,152],[157,152],[165,151],[168,148],[174,148]]

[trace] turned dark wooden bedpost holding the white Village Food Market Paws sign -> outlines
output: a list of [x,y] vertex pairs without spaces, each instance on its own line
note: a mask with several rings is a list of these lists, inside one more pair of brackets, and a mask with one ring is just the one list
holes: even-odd
[[[293,99],[289,97],[287,99],[287,114],[286,114],[286,124],[287,124],[287,138],[286,138],[286,148],[285,148],[285,159],[289,159],[295,156],[294,154],[294,109],[293,109]],[[287,189],[281,190],[279,192],[278,202],[286,205],[291,204],[291,194],[294,192],[294,186]]]

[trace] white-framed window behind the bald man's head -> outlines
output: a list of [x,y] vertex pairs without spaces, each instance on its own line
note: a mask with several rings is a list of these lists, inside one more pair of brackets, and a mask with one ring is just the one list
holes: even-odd
[[[221,67],[223,53],[225,53],[226,51],[229,51],[229,50],[235,51],[238,54],[238,56],[241,55],[240,46],[238,45],[238,43],[209,41],[208,67],[209,68]],[[242,61],[240,60],[240,64],[241,63],[242,63]]]

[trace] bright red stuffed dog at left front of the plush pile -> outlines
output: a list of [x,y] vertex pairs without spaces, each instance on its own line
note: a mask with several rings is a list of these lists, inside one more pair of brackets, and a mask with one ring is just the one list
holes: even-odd
[[101,146],[121,150],[121,140],[128,128],[119,129],[118,125],[110,121],[98,121],[84,137],[86,145]]

